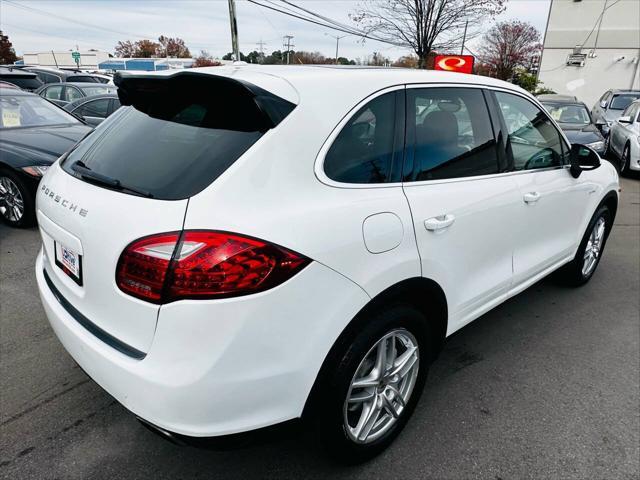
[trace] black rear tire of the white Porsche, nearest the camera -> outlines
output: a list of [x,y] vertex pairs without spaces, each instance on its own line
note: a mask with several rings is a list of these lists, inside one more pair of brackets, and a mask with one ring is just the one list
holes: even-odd
[[[400,329],[400,330],[399,330]],[[356,443],[345,426],[345,402],[361,361],[391,331],[408,331],[417,341],[417,378],[404,409],[395,423],[371,443]],[[397,304],[370,315],[364,327],[341,338],[323,367],[324,378],[314,387],[310,416],[319,439],[337,461],[358,464],[381,453],[400,434],[420,399],[431,357],[430,335],[424,315],[410,305]]]

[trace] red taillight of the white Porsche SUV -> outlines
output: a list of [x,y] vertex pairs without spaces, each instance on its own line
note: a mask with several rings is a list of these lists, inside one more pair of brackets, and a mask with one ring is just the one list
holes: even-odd
[[153,303],[224,298],[273,288],[310,260],[277,245],[241,235],[191,230],[144,237],[120,255],[116,283]]

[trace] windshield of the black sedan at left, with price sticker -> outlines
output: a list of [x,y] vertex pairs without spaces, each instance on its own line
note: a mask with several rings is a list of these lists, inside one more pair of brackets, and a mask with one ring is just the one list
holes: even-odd
[[74,116],[36,95],[0,95],[0,128],[80,123]]

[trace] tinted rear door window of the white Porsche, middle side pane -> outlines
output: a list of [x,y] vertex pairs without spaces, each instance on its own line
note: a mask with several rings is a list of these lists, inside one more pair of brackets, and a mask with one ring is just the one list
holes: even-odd
[[407,122],[414,152],[413,172],[405,180],[498,173],[496,142],[481,90],[409,89]]

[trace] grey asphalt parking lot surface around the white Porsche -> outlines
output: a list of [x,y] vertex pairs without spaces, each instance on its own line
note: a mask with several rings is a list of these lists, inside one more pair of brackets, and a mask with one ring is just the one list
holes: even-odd
[[543,280],[452,336],[404,433],[348,468],[305,433],[210,451],[146,430],[49,327],[37,230],[0,225],[0,477],[638,478],[640,181],[622,186],[593,280]]

